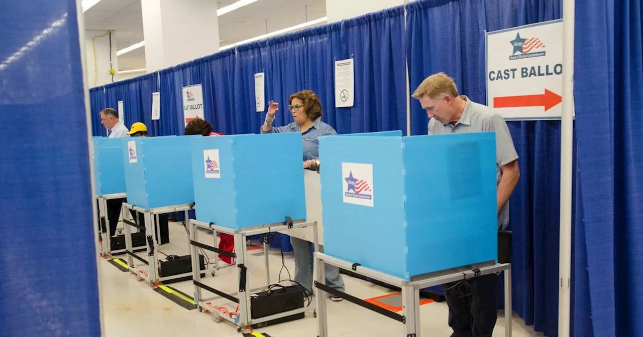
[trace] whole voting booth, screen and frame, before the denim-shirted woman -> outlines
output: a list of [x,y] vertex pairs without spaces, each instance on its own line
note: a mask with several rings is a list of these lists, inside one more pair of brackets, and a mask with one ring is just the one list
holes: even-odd
[[[262,291],[273,285],[267,254],[271,233],[287,233],[306,227],[316,231],[314,222],[306,222],[302,134],[225,135],[195,138],[191,143],[196,220],[189,221],[189,229],[195,302],[201,309],[237,327],[256,327],[257,324],[271,321],[286,322],[303,318],[305,311],[311,311],[314,307],[304,306],[304,298],[310,301],[312,294],[302,286],[285,288],[286,293],[301,293],[302,297],[298,297],[301,301],[294,300],[293,306],[275,306],[270,314],[261,309],[258,302],[251,300],[265,297],[266,293]],[[199,234],[204,230],[210,230],[215,245],[205,245],[204,241],[199,240]],[[234,252],[217,248],[219,233],[233,236]],[[249,289],[250,276],[255,273],[248,272],[246,239],[257,235],[264,238],[266,287]],[[318,250],[316,240],[312,241]],[[201,281],[201,275],[194,268],[199,249],[226,255],[234,260],[233,263],[239,267],[237,292],[224,293],[213,288],[213,284]],[[217,255],[215,263],[218,263]],[[282,282],[284,285],[285,282]],[[218,297],[205,297],[203,291]],[[262,295],[255,295],[258,293]],[[221,313],[212,306],[212,301],[221,297],[239,304],[237,317]],[[255,305],[257,309],[253,310]],[[262,315],[258,315],[260,311]]]

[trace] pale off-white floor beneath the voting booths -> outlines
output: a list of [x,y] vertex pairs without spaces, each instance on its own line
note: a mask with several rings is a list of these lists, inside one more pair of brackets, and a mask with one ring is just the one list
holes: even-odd
[[[162,245],[159,250],[166,254],[187,254],[187,237],[181,223],[170,223],[171,243]],[[212,237],[206,232],[199,232],[199,241],[212,245]],[[248,272],[251,288],[260,288],[266,284],[264,257],[253,254],[263,250],[249,252]],[[210,257],[213,253],[208,252]],[[120,257],[123,257],[122,255]],[[124,257],[123,257],[124,258]],[[271,282],[278,278],[282,266],[278,249],[269,251]],[[294,272],[292,253],[285,254],[285,265]],[[234,267],[222,268],[215,277],[210,276],[213,266],[210,266],[207,276],[202,281],[213,288],[233,293],[236,291],[236,274]],[[145,282],[139,282],[129,272],[122,272],[115,266],[101,259],[98,264],[100,280],[102,327],[105,336],[241,336],[233,325],[226,322],[217,323],[206,313],[198,310],[187,310],[153,291]],[[284,277],[285,270],[282,273]],[[391,293],[392,291],[343,275],[347,293],[358,298],[371,298]],[[192,295],[191,281],[170,284],[170,286]],[[213,296],[204,291],[206,297]],[[314,301],[313,301],[314,303]],[[226,306],[230,311],[235,306],[225,300],[215,302],[217,306]],[[335,336],[402,336],[403,325],[385,316],[381,316],[346,300],[343,302],[328,301],[329,335]],[[450,336],[451,329],[447,324],[448,308],[446,302],[433,302],[421,306],[422,336]],[[523,320],[514,315],[513,336],[542,336],[534,333],[531,327],[525,327]],[[504,316],[498,316],[498,324],[494,336],[504,336]],[[257,329],[260,333],[272,337],[302,337],[317,336],[316,321],[311,313],[306,318],[284,324]]]

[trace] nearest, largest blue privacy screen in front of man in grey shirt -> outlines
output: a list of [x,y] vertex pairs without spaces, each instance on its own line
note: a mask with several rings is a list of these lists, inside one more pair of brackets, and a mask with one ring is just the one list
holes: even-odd
[[497,259],[493,133],[320,139],[324,248],[410,279]]

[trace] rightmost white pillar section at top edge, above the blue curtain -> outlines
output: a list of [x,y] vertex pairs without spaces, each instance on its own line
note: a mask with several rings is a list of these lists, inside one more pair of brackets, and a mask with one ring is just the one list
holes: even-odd
[[326,0],[328,22],[336,22],[404,4],[404,0]]

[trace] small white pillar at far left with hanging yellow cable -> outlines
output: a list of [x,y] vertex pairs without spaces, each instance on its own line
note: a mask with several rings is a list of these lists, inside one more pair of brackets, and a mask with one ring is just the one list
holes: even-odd
[[[107,83],[112,83],[112,75],[109,73],[109,35],[103,35],[107,31],[86,30],[85,31],[85,69],[87,77],[87,87],[93,88]],[[96,53],[92,48],[92,38],[94,40]],[[118,57],[116,56],[116,32],[112,32],[112,67],[118,71]],[[94,59],[96,56],[96,65]],[[95,80],[96,79],[96,80]],[[118,81],[118,72],[114,74],[114,82]]]

